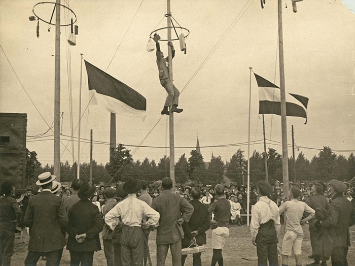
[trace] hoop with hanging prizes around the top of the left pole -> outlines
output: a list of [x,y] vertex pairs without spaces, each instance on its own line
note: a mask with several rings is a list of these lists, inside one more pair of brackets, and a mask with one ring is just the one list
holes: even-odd
[[[41,7],[49,7],[50,5],[54,5],[53,7],[53,11],[51,14],[51,17],[49,18],[49,16],[45,16],[45,14],[43,13],[43,10],[40,10],[40,5]],[[76,45],[76,35],[78,35],[78,31],[79,31],[79,27],[78,25],[75,25],[75,23],[77,22],[77,15],[74,13],[74,11],[72,9],[70,9],[67,6],[64,6],[62,4],[56,4],[53,2],[40,2],[37,3],[33,6],[32,12],[34,14],[34,16],[30,16],[28,17],[28,19],[30,21],[35,21],[37,20],[37,27],[36,27],[36,35],[37,38],[40,38],[40,20],[45,22],[46,24],[48,24],[48,31],[51,31],[51,25],[55,26],[55,23],[52,22],[53,19],[53,15],[54,15],[54,11],[57,8],[57,6],[59,6],[58,8],[63,8],[64,10],[68,10],[70,11],[70,13],[72,13],[72,18],[70,19],[70,23],[66,23],[66,24],[61,24],[61,27],[66,27],[66,26],[70,26],[70,34],[68,36],[68,43],[70,45]],[[41,13],[42,11],[42,13]],[[74,19],[73,19],[74,18]]]

